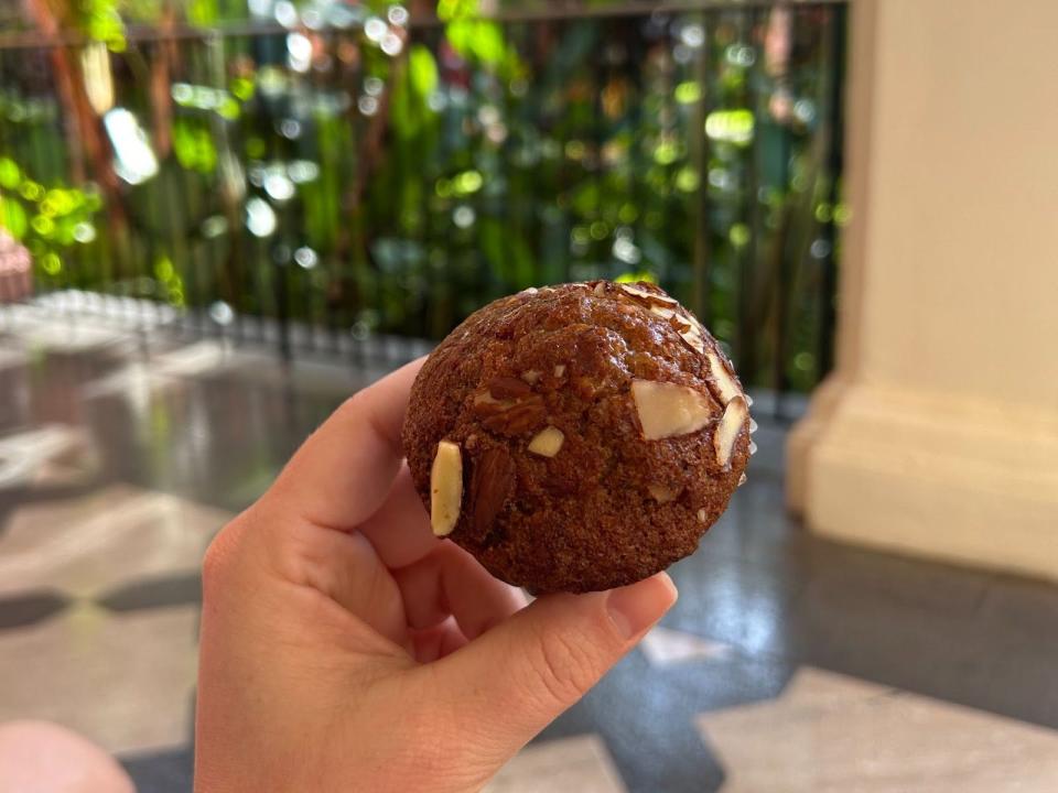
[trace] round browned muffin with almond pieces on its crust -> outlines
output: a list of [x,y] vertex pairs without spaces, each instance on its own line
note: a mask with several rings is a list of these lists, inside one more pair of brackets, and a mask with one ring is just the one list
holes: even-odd
[[[749,422],[730,362],[690,313],[651,284],[595,281],[468,317],[423,365],[403,445],[428,509],[444,458],[435,519],[455,501],[439,533],[510,584],[575,593],[693,553],[739,485]],[[441,442],[457,452],[439,455]]]

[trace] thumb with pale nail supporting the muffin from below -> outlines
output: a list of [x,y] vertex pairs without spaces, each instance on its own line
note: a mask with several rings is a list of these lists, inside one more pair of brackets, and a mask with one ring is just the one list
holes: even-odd
[[[572,706],[676,602],[665,573],[586,595],[546,595],[433,664],[461,727],[496,767]],[[467,723],[464,725],[462,718]],[[466,743],[465,743],[466,746]]]

